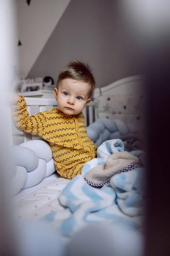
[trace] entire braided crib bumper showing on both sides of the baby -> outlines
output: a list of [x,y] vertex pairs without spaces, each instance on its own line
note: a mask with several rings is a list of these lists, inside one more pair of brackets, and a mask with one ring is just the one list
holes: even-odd
[[[136,131],[136,126],[126,125],[121,120],[97,119],[87,128],[89,138],[95,145],[105,140],[117,139],[120,136]],[[40,183],[43,178],[56,171],[50,145],[43,140],[29,140],[19,146],[12,146],[14,171],[11,177],[12,194]]]

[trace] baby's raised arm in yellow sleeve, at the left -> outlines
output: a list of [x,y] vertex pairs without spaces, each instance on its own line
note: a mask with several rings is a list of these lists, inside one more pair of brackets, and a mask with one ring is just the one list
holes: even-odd
[[26,101],[23,96],[14,94],[13,102],[12,115],[15,127],[20,131],[41,136],[42,131],[45,128],[45,116],[42,113],[29,116]]

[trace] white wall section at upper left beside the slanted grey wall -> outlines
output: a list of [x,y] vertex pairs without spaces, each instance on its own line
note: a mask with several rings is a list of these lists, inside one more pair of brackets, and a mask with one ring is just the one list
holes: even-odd
[[70,0],[17,0],[18,74],[26,77]]

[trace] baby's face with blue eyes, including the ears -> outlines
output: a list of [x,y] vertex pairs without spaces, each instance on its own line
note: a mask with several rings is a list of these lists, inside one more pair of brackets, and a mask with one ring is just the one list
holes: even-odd
[[63,79],[59,88],[54,89],[59,110],[67,115],[77,115],[90,102],[88,99],[90,85],[74,79]]

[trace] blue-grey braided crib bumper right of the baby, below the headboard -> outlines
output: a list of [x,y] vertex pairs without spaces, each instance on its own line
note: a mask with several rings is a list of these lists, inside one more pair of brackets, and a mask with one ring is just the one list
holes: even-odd
[[96,146],[101,145],[105,140],[118,139],[120,136],[137,131],[136,125],[125,124],[121,120],[110,120],[99,118],[87,128],[89,138]]

